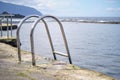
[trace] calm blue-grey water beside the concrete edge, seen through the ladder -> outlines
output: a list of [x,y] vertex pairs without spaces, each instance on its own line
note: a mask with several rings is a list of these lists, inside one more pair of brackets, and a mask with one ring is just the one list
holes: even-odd
[[[41,24],[41,23],[40,23]],[[43,24],[35,29],[36,54],[53,58]],[[63,22],[73,64],[120,79],[120,24]],[[21,30],[22,49],[30,51],[31,24]],[[55,49],[65,52],[58,25],[49,22]],[[58,60],[67,58],[58,56]]]

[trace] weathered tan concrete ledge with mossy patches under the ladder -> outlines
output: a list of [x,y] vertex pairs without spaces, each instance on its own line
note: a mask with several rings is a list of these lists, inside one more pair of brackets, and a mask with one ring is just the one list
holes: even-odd
[[31,55],[22,51],[18,64],[17,50],[0,43],[0,80],[115,80],[104,74],[59,61],[36,56],[37,66],[31,65]]

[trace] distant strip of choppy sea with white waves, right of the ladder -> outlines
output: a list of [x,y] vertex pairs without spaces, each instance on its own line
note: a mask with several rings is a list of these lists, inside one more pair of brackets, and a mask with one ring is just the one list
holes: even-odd
[[120,24],[120,17],[61,17],[61,22]]

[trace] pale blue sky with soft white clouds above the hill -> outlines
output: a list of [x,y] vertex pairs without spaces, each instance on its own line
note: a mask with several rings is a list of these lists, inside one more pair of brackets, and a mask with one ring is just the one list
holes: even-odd
[[120,17],[120,0],[0,0],[60,17]]

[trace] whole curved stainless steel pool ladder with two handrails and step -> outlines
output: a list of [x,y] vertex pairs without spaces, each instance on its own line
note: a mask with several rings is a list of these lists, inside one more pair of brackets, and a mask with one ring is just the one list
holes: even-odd
[[[61,22],[54,16],[51,16],[51,15],[46,15],[46,16],[42,16],[42,17],[39,17],[39,16],[28,16],[28,17],[25,17],[19,24],[19,28],[17,30],[17,44],[18,44],[18,58],[19,58],[19,61],[21,62],[21,52],[20,52],[20,38],[19,38],[19,31],[20,31],[20,28],[23,24],[23,22],[25,22],[25,20],[31,18],[31,17],[37,17],[38,19],[33,23],[32,25],[32,29],[31,29],[31,33],[30,33],[30,42],[31,42],[31,53],[32,53],[32,65],[35,66],[36,65],[36,61],[35,61],[35,52],[34,52],[34,29],[36,27],[36,25],[42,21],[45,25],[45,28],[46,28],[46,32],[47,32],[47,35],[48,35],[48,39],[49,39],[49,42],[50,42],[50,46],[51,46],[51,49],[52,49],[52,53],[53,53],[53,57],[55,60],[57,60],[56,58],[56,54],[58,55],[61,55],[61,56],[65,56],[65,57],[68,57],[69,59],[69,63],[72,64],[72,60],[71,60],[71,56],[70,56],[70,52],[69,52],[69,48],[68,48],[68,44],[67,44],[67,40],[66,40],[66,37],[65,37],[65,32],[64,32],[64,29],[63,29],[63,26],[61,24]],[[53,43],[52,43],[52,39],[51,39],[51,36],[50,36],[50,32],[49,32],[49,29],[48,29],[48,25],[46,23],[46,21],[44,20],[45,18],[52,18],[54,19],[60,26],[60,29],[61,29],[61,33],[62,33],[62,36],[63,36],[63,40],[64,40],[64,45],[65,45],[65,48],[66,48],[66,54],[65,53],[62,53],[62,52],[59,52],[59,51],[55,51],[54,50],[54,46],[53,46]]]

